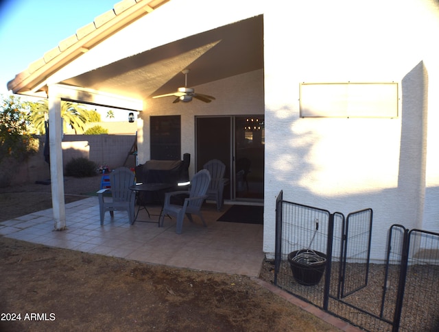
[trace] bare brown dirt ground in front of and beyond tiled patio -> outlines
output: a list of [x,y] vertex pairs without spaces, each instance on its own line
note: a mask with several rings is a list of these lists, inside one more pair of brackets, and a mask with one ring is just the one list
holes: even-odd
[[[67,178],[66,202],[99,182]],[[51,207],[50,190],[34,183],[0,188],[0,222]],[[0,280],[0,331],[340,331],[248,277],[4,237]]]

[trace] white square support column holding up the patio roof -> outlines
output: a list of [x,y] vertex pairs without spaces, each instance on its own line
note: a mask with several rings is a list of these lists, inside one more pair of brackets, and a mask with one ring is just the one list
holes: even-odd
[[49,147],[52,205],[54,208],[54,228],[66,228],[64,203],[64,174],[62,170],[62,118],[61,96],[54,86],[49,86]]

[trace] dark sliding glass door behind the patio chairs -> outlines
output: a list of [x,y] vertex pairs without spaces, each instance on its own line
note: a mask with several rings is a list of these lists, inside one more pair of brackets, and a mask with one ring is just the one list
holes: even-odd
[[264,129],[263,116],[197,117],[196,168],[211,159],[226,165],[229,179],[224,199],[263,199]]

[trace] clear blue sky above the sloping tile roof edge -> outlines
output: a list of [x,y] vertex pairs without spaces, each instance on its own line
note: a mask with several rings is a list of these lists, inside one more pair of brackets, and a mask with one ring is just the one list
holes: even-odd
[[0,0],[0,94],[8,81],[120,0]]

